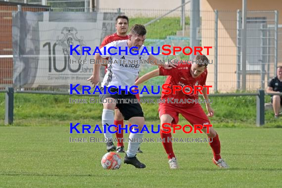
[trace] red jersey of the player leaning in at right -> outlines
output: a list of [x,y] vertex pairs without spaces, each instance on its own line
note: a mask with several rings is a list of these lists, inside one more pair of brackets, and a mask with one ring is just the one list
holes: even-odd
[[[184,86],[190,86],[192,88],[194,88],[194,86],[204,86],[206,84],[206,79],[207,79],[207,69],[197,78],[193,78],[191,76],[190,73],[190,68],[191,68],[191,64],[179,64],[177,68],[173,68],[173,69],[164,69],[164,68],[159,68],[160,70],[160,76],[168,76],[166,79],[165,84],[170,84],[171,87],[171,91],[172,90],[172,86],[181,86],[182,88]],[[190,91],[189,88],[186,88],[185,90],[187,93]],[[171,92],[171,94],[162,94],[161,95],[161,99],[165,99],[165,103],[168,103],[168,98],[174,98],[174,99],[178,99],[178,102],[175,102],[174,99],[172,99],[171,101],[173,101],[173,105],[176,105],[178,107],[187,107],[187,106],[191,106],[193,105],[195,102],[193,103],[185,103],[185,102],[180,102],[181,99],[183,101],[186,101],[186,99],[191,99],[189,101],[192,102],[192,99],[197,99],[198,98],[198,94],[193,94],[193,92],[191,94],[184,94],[182,91],[177,91],[176,94],[173,94],[173,92]]]

